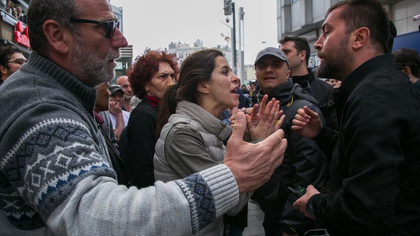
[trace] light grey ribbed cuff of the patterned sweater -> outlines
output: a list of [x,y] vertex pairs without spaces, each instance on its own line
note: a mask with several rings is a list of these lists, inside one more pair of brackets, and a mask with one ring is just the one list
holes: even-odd
[[219,164],[199,173],[212,191],[216,207],[216,217],[236,206],[239,201],[239,190],[230,169]]

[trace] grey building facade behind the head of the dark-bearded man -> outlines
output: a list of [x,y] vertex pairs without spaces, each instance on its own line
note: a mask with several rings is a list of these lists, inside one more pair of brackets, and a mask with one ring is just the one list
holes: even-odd
[[[339,0],[277,0],[277,39],[287,35],[304,36],[311,48],[308,67],[320,63],[313,44],[321,35],[321,26],[327,10]],[[401,47],[420,51],[420,21],[412,17],[420,14],[419,0],[382,0],[390,20],[397,28],[393,50]]]

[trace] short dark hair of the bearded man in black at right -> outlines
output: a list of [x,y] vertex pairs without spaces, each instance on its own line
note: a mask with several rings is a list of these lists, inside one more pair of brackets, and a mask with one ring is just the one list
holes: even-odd
[[388,50],[389,18],[387,11],[378,0],[345,0],[340,1],[328,9],[325,17],[336,8],[345,6],[340,13],[340,18],[347,24],[346,34],[366,27],[371,32],[372,42],[384,53]]

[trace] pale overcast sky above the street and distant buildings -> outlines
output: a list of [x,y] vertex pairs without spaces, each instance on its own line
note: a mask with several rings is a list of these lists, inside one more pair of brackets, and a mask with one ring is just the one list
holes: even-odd
[[[245,65],[253,64],[259,50],[279,45],[276,0],[233,2],[237,12],[239,7],[244,8],[244,61]],[[230,29],[220,22],[226,19],[223,0],[111,0],[111,4],[123,8],[124,35],[133,45],[135,56],[146,47],[167,48],[171,41],[192,46],[202,39],[204,47],[225,45],[221,33],[230,35]],[[232,16],[229,18],[232,25]]]

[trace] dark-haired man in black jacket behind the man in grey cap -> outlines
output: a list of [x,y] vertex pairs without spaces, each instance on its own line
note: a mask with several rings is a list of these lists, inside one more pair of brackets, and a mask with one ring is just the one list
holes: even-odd
[[302,87],[306,87],[303,83],[309,83],[310,93],[318,100],[318,107],[324,107],[333,87],[316,78],[308,68],[310,48],[306,38],[286,36],[280,40],[280,43],[280,49],[284,51],[289,61],[290,77],[292,77],[293,83],[300,84]]

